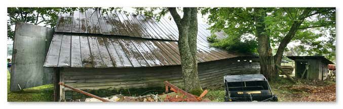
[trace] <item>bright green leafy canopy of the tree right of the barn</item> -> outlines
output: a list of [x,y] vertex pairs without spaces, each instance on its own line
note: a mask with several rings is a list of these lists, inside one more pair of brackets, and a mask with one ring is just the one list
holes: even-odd
[[[266,31],[271,38],[271,46],[277,48],[293,21],[300,17],[306,8],[264,8],[267,12],[265,17]],[[308,55],[321,54],[327,58],[335,56],[335,8],[311,8],[311,13],[298,28],[291,42],[298,43],[298,47],[307,51]],[[255,35],[255,22],[253,20],[253,8],[203,8],[201,13],[208,14],[208,23],[212,31],[223,30],[229,35],[229,39],[240,41],[242,37]],[[235,38],[232,38],[235,37]],[[249,39],[249,43],[256,41],[255,37]],[[222,41],[223,46],[232,46],[231,41]],[[218,44],[214,44],[218,45]],[[238,44],[239,45],[239,44]],[[257,46],[251,46],[257,47]],[[276,49],[274,49],[276,50]],[[286,51],[288,49],[286,48]],[[256,50],[255,50],[256,51]]]

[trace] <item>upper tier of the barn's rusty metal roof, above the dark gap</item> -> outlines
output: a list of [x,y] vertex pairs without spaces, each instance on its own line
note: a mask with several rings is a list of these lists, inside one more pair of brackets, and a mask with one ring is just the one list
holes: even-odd
[[[200,34],[210,36],[208,27],[206,24],[199,24],[198,36]],[[158,22],[155,18],[146,18],[144,15],[126,14],[124,12],[113,12],[100,16],[99,12],[93,9],[88,9],[85,12],[77,11],[72,15],[62,14],[59,16],[55,31],[178,40],[178,30],[172,19],[163,17]],[[221,31],[214,34],[218,39],[227,36]],[[206,41],[206,39],[201,41]]]

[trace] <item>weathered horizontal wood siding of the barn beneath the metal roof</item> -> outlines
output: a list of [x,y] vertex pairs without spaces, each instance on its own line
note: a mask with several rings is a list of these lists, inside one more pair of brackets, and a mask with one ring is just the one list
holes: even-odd
[[[219,60],[198,65],[202,87],[222,85],[224,75],[258,74],[258,62]],[[182,83],[180,66],[145,68],[63,68],[61,75],[67,85],[79,89],[126,89],[164,86],[163,81]],[[70,90],[70,89],[65,89]]]

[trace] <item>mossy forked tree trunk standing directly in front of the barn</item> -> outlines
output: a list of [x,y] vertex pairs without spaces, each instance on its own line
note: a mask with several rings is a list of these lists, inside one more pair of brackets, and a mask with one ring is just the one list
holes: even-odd
[[179,31],[178,46],[185,91],[200,95],[202,88],[199,82],[198,63],[196,59],[198,33],[197,8],[183,8],[182,19],[177,14],[176,8],[168,9]]

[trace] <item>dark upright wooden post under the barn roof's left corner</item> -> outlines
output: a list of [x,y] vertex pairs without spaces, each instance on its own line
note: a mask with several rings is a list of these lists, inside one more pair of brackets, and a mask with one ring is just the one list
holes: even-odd
[[53,75],[53,84],[54,84],[54,101],[59,101],[60,96],[60,85],[58,82],[60,81],[60,70],[59,68],[54,68],[54,75]]

